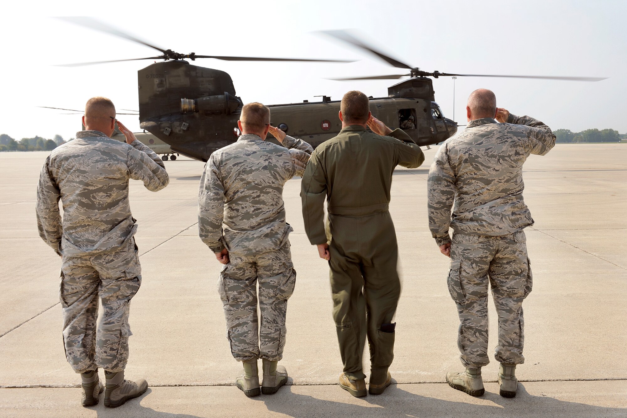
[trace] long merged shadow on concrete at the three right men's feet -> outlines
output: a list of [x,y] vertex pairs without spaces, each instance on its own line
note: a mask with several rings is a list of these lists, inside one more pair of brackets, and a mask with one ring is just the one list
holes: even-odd
[[[443,390],[453,390],[442,386]],[[341,391],[340,387],[337,387]],[[259,398],[268,410],[295,418],[334,416],[334,417],[625,417],[625,408],[607,408],[593,405],[566,402],[559,399],[530,395],[519,383],[518,394],[514,399],[506,399],[498,394],[488,393],[478,398],[489,405],[466,404],[412,394],[398,386],[389,387],[383,395],[368,395],[356,402],[369,405],[344,404],[317,399],[309,395],[292,392],[292,387],[282,389],[283,395]],[[279,392],[280,394],[281,392]],[[277,394],[278,395],[278,394]],[[347,402],[355,402],[345,394]]]

